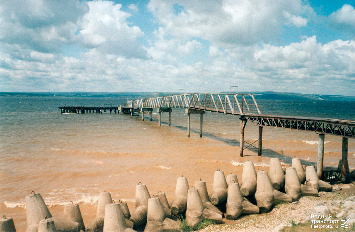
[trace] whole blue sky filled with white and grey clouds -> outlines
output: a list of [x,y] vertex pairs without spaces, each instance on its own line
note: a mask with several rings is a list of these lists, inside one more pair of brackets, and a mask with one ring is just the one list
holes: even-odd
[[355,96],[354,7],[354,0],[0,0],[0,91],[237,85]]

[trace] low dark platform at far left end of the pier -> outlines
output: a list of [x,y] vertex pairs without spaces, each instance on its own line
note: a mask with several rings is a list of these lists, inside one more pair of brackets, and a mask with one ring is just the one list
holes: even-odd
[[119,105],[99,105],[96,107],[85,107],[85,106],[61,106],[61,113],[76,113],[76,114],[87,114],[87,113],[102,113],[107,112],[107,110],[112,113],[120,113],[121,107]]

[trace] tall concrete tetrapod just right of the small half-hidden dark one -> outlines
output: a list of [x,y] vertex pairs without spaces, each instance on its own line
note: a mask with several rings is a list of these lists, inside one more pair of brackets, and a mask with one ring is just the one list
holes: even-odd
[[136,185],[136,208],[133,211],[130,221],[133,222],[133,227],[142,226],[147,222],[148,199],[151,195],[145,184]]

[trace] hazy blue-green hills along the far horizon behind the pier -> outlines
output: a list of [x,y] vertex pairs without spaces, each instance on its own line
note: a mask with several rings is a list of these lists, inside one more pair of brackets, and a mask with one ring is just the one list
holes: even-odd
[[[221,92],[229,93],[229,92]],[[244,92],[251,93],[256,99],[267,100],[326,100],[326,101],[355,101],[355,96],[339,96],[339,95],[313,95],[302,93],[286,93],[286,92]],[[161,97],[166,95],[179,94],[177,92],[0,92],[1,97],[119,97],[127,99]]]

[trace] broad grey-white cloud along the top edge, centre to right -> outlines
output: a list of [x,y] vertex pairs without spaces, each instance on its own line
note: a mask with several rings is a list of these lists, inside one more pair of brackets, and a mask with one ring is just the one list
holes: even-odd
[[[230,48],[269,42],[280,35],[289,21],[305,26],[313,9],[301,0],[246,1],[173,1],[151,0],[148,9],[167,34],[177,37],[201,37],[214,45]],[[290,14],[285,17],[284,11]]]

